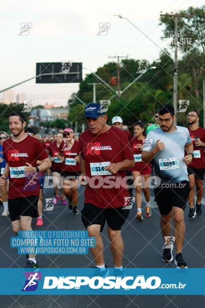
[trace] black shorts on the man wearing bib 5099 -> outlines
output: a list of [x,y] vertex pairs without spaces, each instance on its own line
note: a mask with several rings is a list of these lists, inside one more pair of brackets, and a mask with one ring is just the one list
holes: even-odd
[[162,185],[163,186],[160,185],[154,188],[155,200],[157,202],[160,214],[168,215],[173,206],[185,209],[190,192],[189,181],[170,183],[169,185],[172,186],[169,188],[166,188],[165,183]]

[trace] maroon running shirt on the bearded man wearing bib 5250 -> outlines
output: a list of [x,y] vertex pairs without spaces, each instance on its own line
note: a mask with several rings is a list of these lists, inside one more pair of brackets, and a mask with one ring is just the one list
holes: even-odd
[[[8,198],[39,196],[38,177],[34,176],[34,173],[25,177],[23,168],[19,167],[27,166],[26,163],[36,167],[37,160],[46,159],[48,155],[43,144],[30,135],[20,142],[13,142],[12,138],[9,138],[3,143],[3,155],[9,167],[13,168],[9,172]],[[18,169],[15,170],[16,167]]]

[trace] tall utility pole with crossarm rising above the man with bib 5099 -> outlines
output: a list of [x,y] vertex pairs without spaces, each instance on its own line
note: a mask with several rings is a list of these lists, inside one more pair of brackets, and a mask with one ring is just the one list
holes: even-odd
[[181,17],[192,17],[192,15],[180,15],[180,14],[160,14],[160,16],[172,17],[174,21],[174,77],[173,77],[173,107],[176,114],[177,124],[177,101],[178,101],[178,60],[177,60],[177,37],[178,37],[178,21]]

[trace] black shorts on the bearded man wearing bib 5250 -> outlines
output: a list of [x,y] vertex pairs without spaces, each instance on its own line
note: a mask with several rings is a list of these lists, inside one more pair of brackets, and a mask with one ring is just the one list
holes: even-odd
[[14,198],[8,200],[11,221],[19,220],[20,216],[38,217],[39,196]]

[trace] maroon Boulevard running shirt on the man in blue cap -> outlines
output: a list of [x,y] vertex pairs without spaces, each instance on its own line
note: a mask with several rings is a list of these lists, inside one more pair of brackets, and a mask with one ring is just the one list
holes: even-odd
[[[126,171],[118,171],[115,175],[95,175],[99,168],[103,168],[104,163],[106,166],[109,165],[109,162],[134,160],[130,143],[128,143],[124,131],[112,126],[107,132],[96,136],[88,129],[80,134],[79,143],[81,156],[86,163],[86,176],[89,177],[89,184],[85,189],[85,203],[91,203],[100,208],[124,206],[125,197],[129,197],[125,178]],[[94,175],[91,175],[91,169]],[[98,177],[100,181],[102,179],[104,184],[99,183]],[[96,178],[95,182],[94,178]],[[124,179],[123,184],[121,178]],[[93,183],[99,184],[100,187],[93,187]],[[107,185],[111,186],[113,183],[113,188],[106,188]]]

